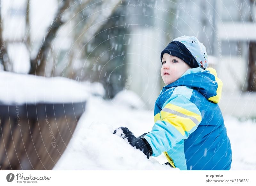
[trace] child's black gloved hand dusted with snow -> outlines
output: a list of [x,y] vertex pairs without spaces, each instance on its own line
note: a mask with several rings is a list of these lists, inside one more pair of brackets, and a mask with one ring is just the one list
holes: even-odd
[[148,159],[149,159],[149,156],[152,155],[152,148],[147,142],[147,140],[143,137],[147,133],[144,133],[140,137],[136,137],[132,134],[132,132],[128,128],[120,127],[120,128],[117,128],[113,134],[116,134],[117,136],[120,136],[123,139],[127,139],[130,145],[142,151],[147,156]]

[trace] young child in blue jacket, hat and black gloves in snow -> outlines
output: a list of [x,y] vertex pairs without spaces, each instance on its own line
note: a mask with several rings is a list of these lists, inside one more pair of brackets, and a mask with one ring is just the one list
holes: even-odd
[[174,39],[161,53],[166,86],[156,99],[152,131],[135,137],[120,127],[114,134],[148,158],[164,153],[166,164],[180,170],[229,170],[231,145],[218,105],[222,81],[207,61],[196,37]]

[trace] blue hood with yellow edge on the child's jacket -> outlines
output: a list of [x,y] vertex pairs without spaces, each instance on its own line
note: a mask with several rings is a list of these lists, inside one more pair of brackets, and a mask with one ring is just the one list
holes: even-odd
[[221,98],[222,81],[217,77],[213,68],[203,70],[200,67],[188,69],[178,80],[163,87],[163,91],[171,87],[187,86],[198,90],[213,103],[219,103]]

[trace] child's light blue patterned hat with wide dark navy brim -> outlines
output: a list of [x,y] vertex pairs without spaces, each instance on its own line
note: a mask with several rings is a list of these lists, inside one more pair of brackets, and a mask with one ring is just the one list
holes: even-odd
[[191,68],[201,67],[205,70],[208,66],[205,46],[195,36],[183,35],[175,38],[161,52],[161,62],[164,53],[182,59]]

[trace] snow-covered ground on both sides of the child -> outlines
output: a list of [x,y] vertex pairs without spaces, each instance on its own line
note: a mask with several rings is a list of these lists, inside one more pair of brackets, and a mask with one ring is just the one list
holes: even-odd
[[[233,152],[231,169],[256,170],[255,120],[240,122],[232,117],[224,120]],[[142,152],[112,134],[115,128],[124,126],[139,136],[150,131],[153,122],[153,111],[132,109],[127,104],[122,107],[91,96],[66,151],[53,170],[175,170],[162,165],[167,162],[164,156],[148,160]]]

